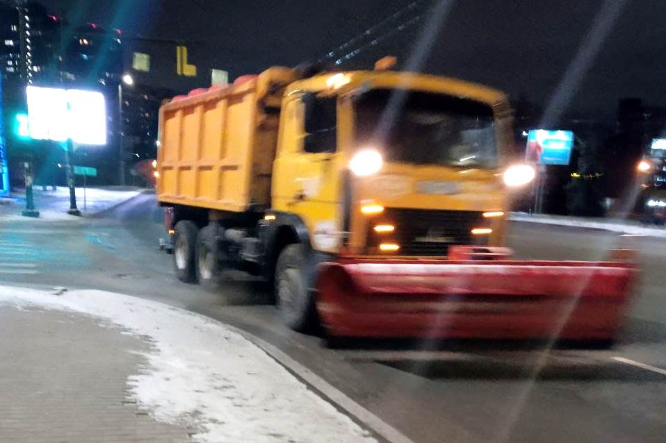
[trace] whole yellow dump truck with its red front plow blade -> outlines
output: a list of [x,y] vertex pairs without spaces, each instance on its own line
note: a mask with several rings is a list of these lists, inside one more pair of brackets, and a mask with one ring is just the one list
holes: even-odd
[[[593,328],[576,311],[560,331],[608,337],[631,269],[498,247],[507,188],[534,174],[508,164],[512,137],[505,94],[425,74],[273,67],[176,97],[157,165],[175,272],[210,288],[229,268],[261,276],[297,330],[437,337],[547,335],[558,297],[606,299],[589,288],[612,276],[617,309]],[[559,278],[580,272],[580,288]]]

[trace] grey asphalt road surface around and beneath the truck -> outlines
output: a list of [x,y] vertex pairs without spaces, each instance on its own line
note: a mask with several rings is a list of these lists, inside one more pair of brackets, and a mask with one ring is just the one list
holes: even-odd
[[232,273],[217,294],[177,281],[171,256],[156,247],[161,217],[154,196],[142,194],[81,222],[0,221],[0,283],[121,292],[225,321],[273,344],[414,442],[664,441],[663,240],[512,223],[509,243],[521,258],[599,259],[616,246],[640,251],[640,294],[610,350],[501,343],[331,349],[321,337],[279,324],[243,274]]

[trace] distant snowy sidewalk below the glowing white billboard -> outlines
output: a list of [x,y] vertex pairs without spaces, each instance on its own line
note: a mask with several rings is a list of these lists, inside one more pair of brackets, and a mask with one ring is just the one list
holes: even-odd
[[[56,190],[51,190],[49,186],[46,191],[42,191],[41,186],[35,186],[33,190],[35,208],[40,212],[39,219],[56,221],[79,219],[79,217],[67,214],[67,210],[70,208],[68,187],[58,186]],[[136,187],[88,187],[85,191],[86,204],[84,205],[83,187],[77,187],[76,206],[82,215],[94,215],[136,197],[143,191]],[[10,199],[3,199],[3,203],[5,204],[0,205],[2,220],[28,218],[21,215],[26,205],[25,192],[13,193]]]

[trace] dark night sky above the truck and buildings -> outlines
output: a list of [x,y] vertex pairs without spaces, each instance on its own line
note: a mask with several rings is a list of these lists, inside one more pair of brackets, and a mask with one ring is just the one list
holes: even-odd
[[[622,0],[616,0],[617,3]],[[232,78],[270,65],[297,65],[323,56],[409,0],[42,0],[68,19],[122,28],[137,50],[153,55],[154,70],[139,81],[187,89],[209,85],[211,67]],[[418,70],[486,83],[547,107],[602,8],[598,0],[449,1],[437,37]],[[427,5],[427,2],[423,2]],[[666,1],[629,0],[616,8],[598,53],[584,58],[565,88],[563,112],[592,118],[615,115],[619,97],[666,105]],[[120,13],[118,13],[120,11]],[[409,19],[405,15],[396,25]],[[405,62],[423,22],[388,37],[343,65],[370,67],[392,54]],[[379,35],[391,31],[384,28]],[[175,76],[172,44],[133,37],[188,41],[196,79]],[[594,53],[591,51],[590,53]],[[207,69],[206,69],[207,68]]]

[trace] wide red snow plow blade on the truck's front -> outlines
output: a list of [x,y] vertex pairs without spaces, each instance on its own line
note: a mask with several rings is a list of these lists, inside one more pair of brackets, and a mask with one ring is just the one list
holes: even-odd
[[609,340],[637,278],[624,262],[341,259],[317,309],[338,337]]

